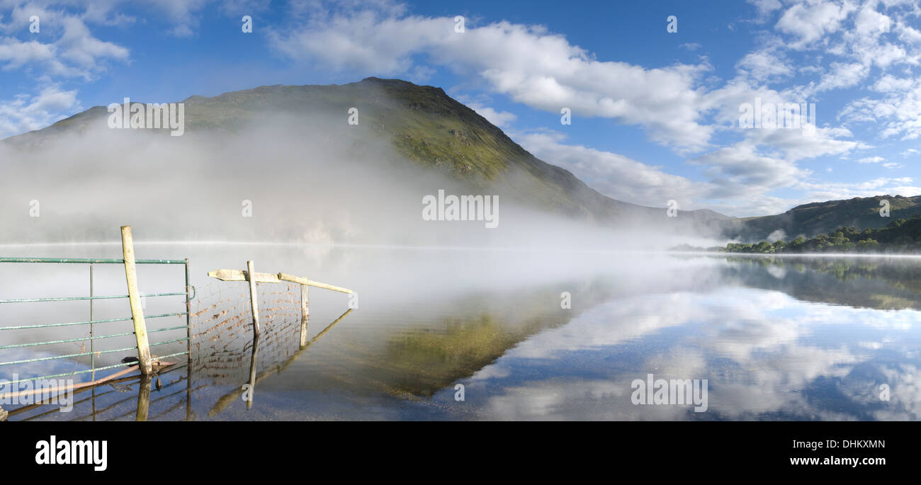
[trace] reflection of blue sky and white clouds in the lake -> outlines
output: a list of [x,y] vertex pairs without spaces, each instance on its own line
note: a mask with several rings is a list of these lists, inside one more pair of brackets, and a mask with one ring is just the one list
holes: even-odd
[[[487,419],[921,417],[921,314],[905,309],[916,307],[917,263],[730,262],[725,285],[617,299],[523,342],[474,375],[467,396],[488,395]],[[553,377],[521,379],[524,366]],[[647,373],[709,379],[710,409],[633,406],[630,382]]]

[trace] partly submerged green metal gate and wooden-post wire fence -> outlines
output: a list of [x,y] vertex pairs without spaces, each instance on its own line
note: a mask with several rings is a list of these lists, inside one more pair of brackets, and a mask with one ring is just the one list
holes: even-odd
[[[60,322],[55,321],[53,323],[40,323],[38,321],[33,322],[21,322],[20,325],[6,325],[7,322],[0,322],[0,377],[8,375],[6,369],[9,369],[10,366],[17,364],[36,364],[36,363],[48,363],[52,361],[61,362],[64,360],[74,360],[75,367],[71,372],[56,373],[49,375],[32,375],[26,376],[23,378],[17,378],[17,375],[13,375],[12,380],[0,379],[0,384],[3,386],[13,385],[17,383],[24,383],[27,381],[37,381],[33,389],[25,391],[12,391],[12,392],[0,392],[0,404],[3,404],[3,398],[10,398],[14,396],[22,396],[25,394],[39,394],[41,391],[41,386],[38,384],[40,382],[46,382],[48,379],[55,377],[69,377],[72,375],[80,374],[90,374],[91,380],[88,382],[83,382],[78,385],[74,385],[73,381],[69,381],[69,386],[71,390],[80,388],[86,389],[89,387],[96,387],[99,384],[107,381],[111,381],[122,375],[134,372],[139,370],[141,373],[141,395],[145,394],[146,397],[139,395],[138,398],[138,410],[137,410],[137,419],[146,420],[147,409],[149,406],[149,392],[150,392],[150,375],[154,371],[160,370],[162,365],[169,365],[169,362],[161,362],[160,359],[165,359],[168,357],[176,357],[180,355],[187,355],[187,370],[188,375],[186,378],[189,380],[188,387],[188,396],[186,398],[187,402],[187,416],[191,416],[191,402],[192,402],[192,317],[195,317],[198,320],[198,323],[202,329],[194,336],[195,348],[198,352],[203,350],[206,353],[204,361],[200,362],[198,365],[198,371],[203,373],[205,376],[211,377],[212,380],[220,381],[222,379],[227,380],[229,378],[232,382],[238,382],[239,379],[236,375],[230,376],[232,372],[228,372],[231,368],[236,367],[239,361],[242,361],[244,355],[247,351],[251,352],[251,365],[250,365],[250,383],[251,386],[255,386],[255,382],[258,380],[256,377],[256,349],[259,347],[258,341],[260,336],[260,319],[267,322],[274,322],[274,325],[267,329],[266,335],[263,336],[264,344],[269,344],[265,347],[265,352],[271,352],[270,349],[277,347],[280,352],[284,352],[284,355],[275,356],[277,358],[271,359],[273,362],[278,361],[282,362],[286,359],[290,359],[291,355],[297,355],[298,351],[303,351],[306,349],[313,341],[316,341],[322,334],[324,334],[328,329],[332,328],[336,322],[341,320],[345,315],[348,314],[346,311],[342,317],[338,318],[336,322],[321,331],[313,341],[307,340],[307,327],[309,321],[309,302],[308,302],[308,287],[314,286],[327,290],[332,290],[336,292],[341,292],[345,294],[354,294],[352,290],[340,287],[333,286],[332,284],[320,283],[309,280],[301,276],[293,276],[283,272],[279,273],[261,273],[256,272],[253,269],[253,261],[247,261],[247,270],[218,270],[210,271],[208,276],[216,278],[224,282],[243,282],[247,283],[248,288],[241,287],[239,292],[239,299],[227,297],[225,298],[222,294],[218,293],[215,298],[206,297],[205,302],[201,301],[198,304],[197,311],[192,313],[192,299],[195,299],[196,296],[194,287],[190,284],[189,278],[189,260],[135,260],[134,259],[134,242],[131,235],[130,226],[122,226],[122,259],[77,259],[77,258],[4,258],[0,257],[0,265],[3,264],[13,264],[13,263],[41,263],[41,264],[68,264],[68,265],[86,265],[88,269],[89,277],[89,294],[84,296],[41,296],[41,297],[29,297],[29,298],[12,298],[12,299],[0,299],[0,314],[6,314],[3,311],[5,306],[15,306],[17,304],[29,304],[29,303],[51,303],[51,302],[87,302],[89,310],[89,319],[81,321],[67,321]],[[124,266],[125,282],[127,286],[127,294],[96,294],[94,290],[94,268],[97,265],[111,265],[119,264]],[[141,294],[138,291],[137,283],[137,274],[136,274],[136,265],[183,265],[184,266],[184,277],[185,277],[185,287],[184,291],[181,292],[165,292],[165,293],[149,293]],[[260,298],[260,292],[257,289],[259,285],[264,283],[282,283],[279,286],[275,286],[273,289],[266,288],[262,292],[262,298]],[[246,290],[249,291],[246,291]],[[218,290],[219,292],[220,290]],[[236,294],[237,292],[232,292]],[[143,305],[141,302],[142,298],[157,298],[157,297],[168,297],[168,296],[185,296],[185,308],[184,311],[176,311],[169,313],[158,313],[156,315],[145,315]],[[207,296],[207,295],[206,295]],[[211,296],[215,296],[212,294]],[[298,298],[299,296],[299,298]],[[97,312],[94,307],[94,303],[99,300],[118,300],[118,299],[127,299],[131,306],[131,316],[118,317],[118,318],[96,318]],[[262,299],[262,302],[260,300]],[[215,301],[212,301],[215,300]],[[350,303],[351,307],[351,303]],[[298,311],[299,310],[299,311]],[[82,310],[81,310],[82,311]],[[351,310],[349,310],[351,311]],[[262,315],[261,315],[262,314]],[[56,316],[55,316],[56,317]],[[150,318],[170,318],[170,317],[184,317],[185,324],[180,326],[169,326],[166,328],[160,329],[151,329],[146,328],[146,319]],[[29,316],[29,318],[33,318]],[[131,331],[126,331],[129,329],[122,329],[122,331],[112,330],[112,333],[101,332],[98,333],[98,325],[111,324],[114,322],[124,322],[132,321],[134,328]],[[19,322],[13,322],[19,323]],[[244,341],[241,348],[238,348],[239,340],[238,337],[241,333],[244,333],[240,330],[246,329],[251,325],[253,339],[251,341]],[[88,335],[63,335],[61,332],[65,329],[79,329],[85,327],[88,329]],[[299,327],[299,329],[298,329]],[[42,341],[14,341],[4,339],[5,335],[13,333],[14,330],[24,330],[29,332],[29,335],[32,335],[36,331],[41,331],[41,329],[51,329],[52,332],[58,333],[56,338],[53,340],[42,340]],[[158,334],[160,332],[168,332],[170,330],[181,330],[185,329],[185,336],[179,339],[173,339],[167,337],[163,341],[149,341],[148,334]],[[287,341],[287,337],[292,334],[297,334],[299,330],[299,345],[296,349],[282,349],[282,345],[272,345],[273,341]],[[128,338],[129,336],[134,336],[135,345],[129,347],[121,347],[116,349],[97,349],[97,341],[106,341],[118,338]],[[293,336],[293,335],[292,335]],[[64,338],[67,337],[67,338]],[[34,337],[33,337],[34,338]],[[3,343],[4,341],[8,343]],[[89,342],[89,350],[86,352],[86,342]],[[172,352],[166,355],[151,356],[150,349],[152,347],[159,347],[163,345],[175,344],[179,342],[186,342],[185,350],[183,352]],[[63,354],[51,354],[51,355],[41,355],[35,356],[31,353],[25,353],[18,357],[14,357],[13,360],[4,359],[4,351],[21,351],[28,350],[35,347],[41,346],[52,346],[52,345],[61,345],[61,344],[83,344],[83,347],[80,349],[80,352],[57,352]],[[204,346],[203,346],[204,344]],[[204,347],[204,348],[203,348]],[[103,362],[102,366],[97,366],[99,364],[99,356],[103,354],[112,354],[117,352],[136,352],[137,362],[129,364],[128,368],[125,368],[125,361],[122,360],[118,364],[108,364]],[[169,351],[167,351],[169,352]],[[77,370],[76,361],[83,357],[89,357],[89,368]],[[271,355],[270,355],[271,356]],[[29,357],[29,358],[22,358]],[[196,360],[201,360],[196,358]],[[64,361],[66,362],[66,361]],[[155,364],[157,365],[155,368]],[[107,369],[114,369],[116,367],[122,367],[120,372],[111,374],[105,378],[96,379],[96,373],[99,371],[104,371]],[[32,369],[34,371],[34,368]],[[35,372],[35,374],[48,374],[47,372]],[[112,381],[114,382],[114,381]],[[2,388],[3,386],[0,386]],[[158,381],[157,381],[158,386]],[[29,386],[24,386],[29,387]],[[57,388],[55,387],[55,390]],[[93,403],[95,409],[95,390],[93,391],[93,398],[91,402]],[[39,404],[36,401],[36,406]],[[30,410],[31,407],[27,406],[15,410],[15,412],[25,412]],[[9,411],[12,413],[14,411]],[[0,421],[5,421],[6,416],[9,414],[6,410],[0,408]],[[95,414],[95,411],[94,411]]]

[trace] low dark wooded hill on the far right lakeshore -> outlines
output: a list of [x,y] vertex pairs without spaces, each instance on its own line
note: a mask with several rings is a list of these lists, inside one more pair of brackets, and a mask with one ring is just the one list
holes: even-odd
[[[890,215],[880,215],[880,202],[889,201]],[[746,242],[758,242],[780,230],[785,240],[834,233],[838,227],[858,230],[878,229],[899,218],[921,214],[921,196],[878,195],[842,201],[811,202],[798,205],[784,214],[748,217],[721,224],[723,234]],[[777,234],[779,236],[779,234]]]

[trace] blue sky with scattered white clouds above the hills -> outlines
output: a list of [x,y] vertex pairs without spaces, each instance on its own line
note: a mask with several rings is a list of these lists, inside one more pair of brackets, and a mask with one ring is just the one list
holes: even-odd
[[[615,199],[776,214],[921,194],[919,64],[917,0],[0,0],[0,137],[124,97],[397,77]],[[740,127],[756,100],[814,103],[815,127]]]

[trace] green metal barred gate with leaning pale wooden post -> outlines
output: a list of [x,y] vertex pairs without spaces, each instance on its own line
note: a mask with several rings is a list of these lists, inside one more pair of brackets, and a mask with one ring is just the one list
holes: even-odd
[[[51,379],[54,377],[63,377],[70,375],[78,374],[90,374],[93,379],[98,371],[103,371],[107,369],[112,369],[115,367],[124,367],[124,364],[112,364],[104,365],[101,367],[96,366],[96,359],[101,354],[115,353],[115,352],[130,352],[136,351],[139,370],[142,374],[150,374],[152,369],[152,363],[150,358],[150,348],[158,347],[162,345],[169,345],[172,343],[178,343],[181,341],[186,341],[186,350],[183,352],[173,352],[167,355],[159,355],[157,359],[163,359],[167,357],[175,357],[183,354],[189,354],[189,343],[191,341],[191,315],[190,307],[192,296],[192,286],[189,284],[189,260],[134,260],[134,244],[131,237],[131,227],[124,226],[122,227],[122,252],[124,258],[121,260],[107,260],[107,259],[76,259],[76,258],[0,258],[0,263],[49,263],[49,264],[85,264],[88,267],[89,273],[89,294],[87,296],[48,296],[48,297],[39,297],[39,298],[14,298],[14,299],[0,299],[0,306],[6,305],[15,305],[15,304],[25,304],[25,303],[43,303],[43,302],[64,302],[64,301],[87,301],[89,303],[89,319],[86,321],[72,321],[72,322],[63,322],[63,323],[47,323],[47,324],[32,324],[32,325],[14,325],[14,326],[4,326],[0,327],[0,335],[5,333],[7,330],[35,330],[35,329],[55,329],[55,328],[68,328],[68,327],[77,327],[77,326],[87,326],[89,330],[88,336],[71,338],[71,339],[59,339],[51,341],[30,341],[23,343],[11,343],[6,345],[0,345],[0,360],[3,358],[3,352],[6,350],[14,349],[24,349],[24,348],[33,348],[46,345],[54,344],[63,344],[71,342],[85,342],[89,341],[90,349],[89,352],[76,352],[76,353],[67,353],[64,355],[52,355],[47,357],[35,357],[30,359],[20,359],[14,361],[0,362],[0,371],[4,367],[9,365],[16,364],[32,364],[40,363],[46,361],[55,361],[62,359],[79,359],[81,357],[89,356],[90,366],[88,369],[84,370],[74,370],[73,372],[53,374],[53,375],[35,375],[19,378],[17,380],[8,380],[6,384],[17,384],[25,381],[36,381],[41,379]],[[128,286],[128,294],[107,294],[107,295],[97,295],[93,291],[93,269],[95,265],[99,264],[123,264],[125,267],[125,278]],[[170,292],[170,293],[154,293],[154,294],[140,294],[137,290],[137,275],[135,272],[135,264],[149,264],[149,265],[184,265],[185,266],[185,289],[182,292]],[[150,297],[161,297],[161,296],[185,296],[185,311],[163,313],[158,315],[144,315],[144,311],[141,305],[141,297],[150,298]],[[93,303],[98,300],[112,300],[112,299],[123,299],[127,298],[131,304],[132,315],[130,317],[122,318],[94,318],[94,306]],[[185,325],[167,327],[162,329],[146,329],[146,318],[168,318],[168,317],[185,317]],[[98,324],[109,324],[113,322],[121,321],[133,321],[134,329],[131,331],[122,331],[115,333],[104,333],[97,334],[96,326]],[[166,341],[148,341],[148,333],[159,333],[169,330],[178,330],[186,329],[185,337],[181,339],[171,339]],[[136,345],[131,347],[124,347],[118,349],[106,349],[106,350],[97,350],[96,342],[103,341],[107,339],[115,339],[118,337],[125,337],[129,335],[135,336]],[[4,374],[0,372],[0,374]]]

